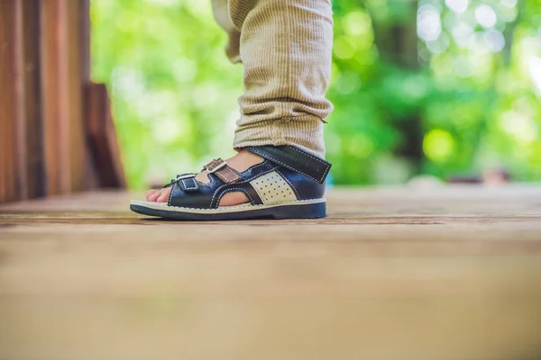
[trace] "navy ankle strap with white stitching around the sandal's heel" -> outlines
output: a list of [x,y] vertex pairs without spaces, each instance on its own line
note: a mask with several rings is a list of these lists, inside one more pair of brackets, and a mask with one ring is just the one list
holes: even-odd
[[246,149],[273,163],[314,179],[319,184],[325,182],[326,175],[331,169],[331,164],[324,159],[314,157],[306,151],[289,145],[246,147]]

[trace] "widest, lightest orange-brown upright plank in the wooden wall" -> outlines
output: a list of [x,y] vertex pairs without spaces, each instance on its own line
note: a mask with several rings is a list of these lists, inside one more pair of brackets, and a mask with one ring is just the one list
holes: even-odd
[[87,188],[80,2],[41,2],[42,107],[48,193]]

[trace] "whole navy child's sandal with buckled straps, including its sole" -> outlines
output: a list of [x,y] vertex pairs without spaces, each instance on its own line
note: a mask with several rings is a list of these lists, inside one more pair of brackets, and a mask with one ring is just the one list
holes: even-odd
[[[264,158],[239,173],[222,159],[204,169],[210,183],[196,174],[171,180],[168,202],[133,200],[132,211],[174,220],[315,219],[326,216],[325,179],[331,164],[291,146],[245,148]],[[242,192],[250,202],[219,206],[225,193]]]

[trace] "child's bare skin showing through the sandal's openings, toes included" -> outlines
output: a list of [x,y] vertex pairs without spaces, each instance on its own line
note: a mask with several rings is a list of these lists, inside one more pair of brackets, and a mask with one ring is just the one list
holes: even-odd
[[[263,161],[262,157],[259,157],[247,150],[240,150],[234,157],[230,157],[227,160],[228,166],[233,167],[236,171],[242,173],[249,167],[260,164]],[[203,170],[196,176],[196,180],[207,184],[210,179],[207,176],[208,172]],[[172,190],[172,186],[165,187],[163,189],[154,190],[151,189],[146,192],[146,200],[148,202],[168,202],[169,196]],[[222,200],[220,200],[219,206],[233,206],[241,203],[249,202],[246,195],[242,192],[226,193]]]

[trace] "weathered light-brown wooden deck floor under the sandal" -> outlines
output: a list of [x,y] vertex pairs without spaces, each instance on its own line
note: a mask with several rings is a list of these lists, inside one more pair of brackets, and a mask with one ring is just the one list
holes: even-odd
[[325,220],[0,207],[0,359],[541,358],[541,187],[334,190]]

